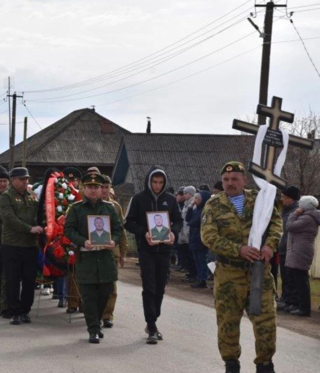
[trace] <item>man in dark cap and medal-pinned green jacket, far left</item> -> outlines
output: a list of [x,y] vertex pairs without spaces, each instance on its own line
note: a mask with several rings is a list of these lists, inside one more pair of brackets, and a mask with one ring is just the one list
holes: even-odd
[[[37,196],[28,190],[29,173],[17,167],[10,172],[11,185],[1,194],[2,255],[10,324],[30,323],[29,311],[34,300],[34,282],[38,269],[36,225]],[[20,292],[21,283],[21,292]]]

